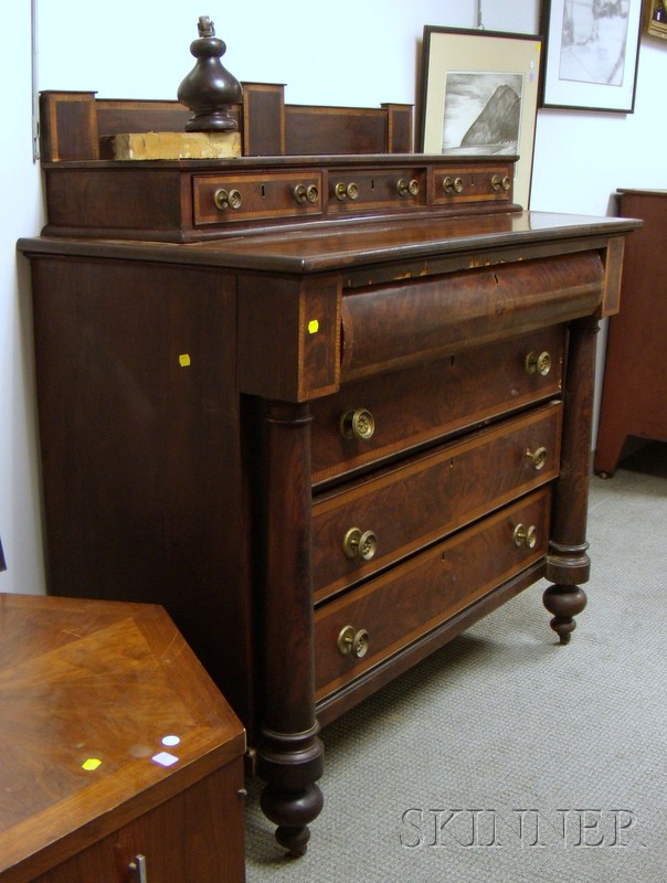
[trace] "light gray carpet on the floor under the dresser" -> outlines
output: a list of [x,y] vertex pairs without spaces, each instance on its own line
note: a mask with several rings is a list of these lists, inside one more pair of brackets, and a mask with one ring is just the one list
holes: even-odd
[[304,858],[251,787],[247,883],[667,880],[667,446],[622,466],[570,646],[540,584],[336,721]]

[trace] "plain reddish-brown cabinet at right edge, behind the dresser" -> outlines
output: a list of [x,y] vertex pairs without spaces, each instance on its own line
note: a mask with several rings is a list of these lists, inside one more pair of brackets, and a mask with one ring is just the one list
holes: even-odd
[[667,442],[667,191],[621,190],[644,226],[627,244],[621,311],[610,319],[595,471],[614,474],[629,436]]

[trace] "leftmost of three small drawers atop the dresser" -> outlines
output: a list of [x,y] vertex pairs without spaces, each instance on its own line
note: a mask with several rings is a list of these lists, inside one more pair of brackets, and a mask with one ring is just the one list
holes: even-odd
[[197,174],[192,182],[195,224],[226,224],[322,211],[321,174],[308,170],[271,174]]

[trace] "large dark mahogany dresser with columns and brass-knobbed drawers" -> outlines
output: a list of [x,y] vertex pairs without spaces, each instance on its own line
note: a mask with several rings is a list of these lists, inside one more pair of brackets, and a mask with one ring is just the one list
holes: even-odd
[[522,212],[511,159],[412,153],[393,105],[285,106],[283,156],[141,164],[86,132],[157,111],[45,100],[47,235],[20,249],[50,591],[167,606],[298,854],[319,724],[540,577],[569,640],[636,223]]

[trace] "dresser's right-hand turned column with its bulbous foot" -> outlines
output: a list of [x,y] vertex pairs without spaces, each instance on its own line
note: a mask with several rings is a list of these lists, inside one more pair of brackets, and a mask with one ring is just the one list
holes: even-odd
[[543,595],[544,606],[553,614],[551,628],[561,643],[569,643],[576,628],[574,617],[586,606],[586,594],[580,583],[587,582],[591,570],[586,521],[599,330],[597,318],[593,316],[570,325],[561,467],[547,560],[547,578],[553,585]]

